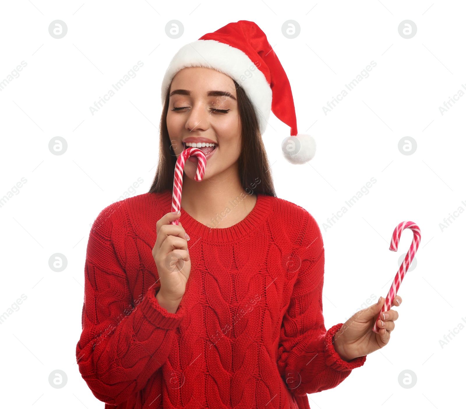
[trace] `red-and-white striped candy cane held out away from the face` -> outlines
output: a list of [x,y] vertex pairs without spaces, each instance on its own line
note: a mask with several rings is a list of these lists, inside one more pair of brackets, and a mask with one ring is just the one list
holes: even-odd
[[374,331],[375,333],[379,333],[379,329],[381,329],[377,327],[377,321],[381,319],[380,316],[383,312],[390,310],[391,303],[393,302],[393,300],[395,299],[397,295],[397,292],[400,288],[400,284],[403,281],[404,275],[406,274],[406,271],[408,271],[411,261],[413,260],[414,255],[416,254],[416,251],[419,248],[419,243],[421,242],[421,230],[419,229],[418,225],[414,222],[401,222],[400,224],[397,225],[395,230],[393,230],[389,250],[391,251],[398,250],[398,243],[400,242],[401,232],[404,229],[412,230],[413,238],[412,238],[411,247],[406,253],[403,263],[400,265],[397,275],[395,276],[395,279],[393,280],[393,283],[391,284],[390,290],[388,291],[387,297],[385,298],[384,306],[380,310],[376,323],[374,324],[374,327],[372,328],[372,331]]

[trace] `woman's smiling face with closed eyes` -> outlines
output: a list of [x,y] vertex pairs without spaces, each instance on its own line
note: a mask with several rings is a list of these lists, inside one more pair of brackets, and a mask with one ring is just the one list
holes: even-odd
[[[167,129],[176,156],[189,147],[188,142],[198,143],[206,154],[209,179],[235,164],[241,151],[241,121],[232,78],[215,69],[184,68],[174,76],[169,92]],[[186,160],[190,179],[197,165],[195,156]]]

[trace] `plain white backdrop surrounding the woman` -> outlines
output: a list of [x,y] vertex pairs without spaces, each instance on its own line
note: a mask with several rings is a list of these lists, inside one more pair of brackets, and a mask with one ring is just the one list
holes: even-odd
[[[371,296],[386,296],[412,239],[405,230],[400,250],[388,250],[399,222],[416,222],[422,232],[389,344],[337,388],[308,395],[311,408],[464,404],[466,329],[443,348],[439,340],[466,319],[466,215],[443,231],[439,223],[466,208],[466,96],[444,115],[439,106],[466,86],[465,12],[463,2],[432,0],[2,3],[0,81],[27,62],[0,91],[0,197],[27,180],[0,208],[0,314],[27,297],[0,325],[2,406],[103,408],[75,363],[90,225],[138,178],[144,182],[127,195],[151,185],[160,84],[171,57],[238,20],[267,34],[291,83],[298,131],[317,142],[314,159],[291,165],[281,154],[289,128],[271,114],[263,135],[278,197],[306,208],[321,226],[326,327]],[[61,39],[48,33],[57,19],[68,26]],[[176,40],[165,35],[170,20],[184,25]],[[287,20],[301,26],[295,39],[281,32]],[[411,39],[398,34],[404,20],[417,25]],[[92,115],[89,106],[138,61],[137,76]],[[369,77],[325,115],[322,107],[371,61],[377,66]],[[59,156],[48,149],[58,136],[68,143]],[[412,155],[398,150],[407,136],[417,142]],[[324,229],[371,177],[377,182],[369,193]],[[68,260],[62,272],[49,268],[54,253]],[[55,369],[68,376],[64,388],[48,383]],[[406,369],[417,375],[413,388],[398,383]]]

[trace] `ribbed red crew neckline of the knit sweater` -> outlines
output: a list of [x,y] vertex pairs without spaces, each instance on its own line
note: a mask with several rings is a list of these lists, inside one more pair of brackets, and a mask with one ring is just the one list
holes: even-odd
[[[172,192],[166,190],[165,195],[171,209]],[[257,193],[257,201],[254,208],[243,220],[230,227],[211,228],[206,226],[194,219],[183,207],[181,207],[179,221],[191,237],[191,240],[195,237],[192,243],[201,238],[203,242],[212,244],[236,242],[245,236],[249,236],[267,220],[267,216],[272,208],[271,198],[269,195]],[[233,205],[229,203],[227,207],[231,209]],[[228,217],[227,214],[226,217]]]

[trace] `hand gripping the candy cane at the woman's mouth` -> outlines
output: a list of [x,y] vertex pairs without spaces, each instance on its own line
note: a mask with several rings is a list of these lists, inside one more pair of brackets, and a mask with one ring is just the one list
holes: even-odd
[[180,213],[174,215],[170,212],[158,220],[157,240],[152,249],[160,279],[160,289],[156,297],[159,304],[169,312],[176,312],[191,272],[187,242],[189,236],[185,236],[181,223],[178,226],[171,224],[179,216]]

